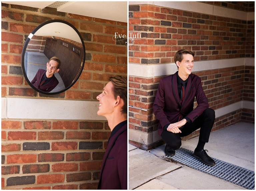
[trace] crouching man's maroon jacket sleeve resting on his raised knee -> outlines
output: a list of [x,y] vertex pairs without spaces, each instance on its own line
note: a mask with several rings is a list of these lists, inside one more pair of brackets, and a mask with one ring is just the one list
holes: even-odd
[[186,116],[191,120],[192,123],[204,112],[204,110],[209,108],[208,99],[204,93],[201,78],[199,78],[196,84],[196,102],[198,104],[197,107]]

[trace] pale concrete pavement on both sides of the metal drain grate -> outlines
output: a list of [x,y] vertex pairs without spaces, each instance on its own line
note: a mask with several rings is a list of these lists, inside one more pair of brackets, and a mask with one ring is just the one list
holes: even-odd
[[[208,155],[254,170],[254,124],[238,123],[211,133],[205,149]],[[198,138],[182,141],[182,148],[194,151]],[[215,176],[163,160],[164,145],[149,151],[129,144],[129,189],[245,189]]]

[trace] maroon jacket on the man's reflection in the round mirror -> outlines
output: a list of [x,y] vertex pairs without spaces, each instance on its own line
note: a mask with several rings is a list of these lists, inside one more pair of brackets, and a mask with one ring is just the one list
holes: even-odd
[[50,92],[52,91],[59,83],[59,81],[57,80],[57,78],[54,76],[53,74],[53,78],[51,79],[51,81],[49,81],[47,84],[44,84],[42,86],[39,87],[40,82],[42,80],[42,77],[44,75],[44,73],[46,72],[46,70],[43,69],[39,69],[34,77],[34,79],[31,81],[31,83],[39,90],[44,91],[44,92]]

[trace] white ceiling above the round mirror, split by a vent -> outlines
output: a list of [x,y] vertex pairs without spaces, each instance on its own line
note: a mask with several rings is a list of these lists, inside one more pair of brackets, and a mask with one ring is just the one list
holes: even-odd
[[[43,9],[55,1],[2,1]],[[127,23],[127,1],[67,1],[57,11]]]

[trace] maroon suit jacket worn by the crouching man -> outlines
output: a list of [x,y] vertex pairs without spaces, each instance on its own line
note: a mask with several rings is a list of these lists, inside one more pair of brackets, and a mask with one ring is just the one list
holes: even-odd
[[[180,104],[176,73],[162,78],[158,86],[153,104],[154,114],[159,120],[158,135],[162,134],[165,125],[177,122],[180,114],[183,118],[188,117],[193,123],[209,107],[201,78],[192,73],[188,77],[183,103]],[[198,105],[193,110],[195,97]]]

